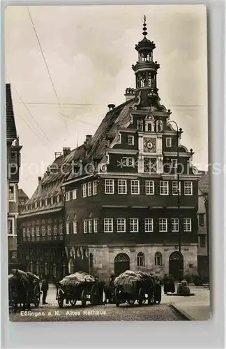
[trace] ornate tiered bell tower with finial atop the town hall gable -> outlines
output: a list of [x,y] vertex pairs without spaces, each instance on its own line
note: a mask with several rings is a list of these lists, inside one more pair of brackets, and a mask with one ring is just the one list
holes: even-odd
[[153,61],[153,50],[156,44],[146,38],[147,36],[146,16],[144,16],[143,36],[144,38],[135,45],[135,50],[138,52],[138,61],[132,66],[136,77],[136,94],[140,93],[141,107],[152,107],[160,110],[160,98],[157,88],[157,71],[160,65],[157,61]]

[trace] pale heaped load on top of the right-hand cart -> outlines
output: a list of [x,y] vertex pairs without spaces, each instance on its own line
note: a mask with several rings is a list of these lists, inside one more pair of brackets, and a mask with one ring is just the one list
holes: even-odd
[[131,270],[126,270],[120,274],[114,280],[114,285],[123,287],[125,292],[135,292],[138,281],[150,280],[151,275],[143,272],[132,272]]

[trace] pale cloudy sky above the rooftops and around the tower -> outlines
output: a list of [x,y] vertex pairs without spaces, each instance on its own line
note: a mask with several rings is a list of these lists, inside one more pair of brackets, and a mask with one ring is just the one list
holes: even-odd
[[[135,44],[156,43],[158,89],[171,119],[183,128],[181,144],[206,170],[207,48],[204,6],[8,7],[5,13],[6,82],[11,83],[22,144],[20,188],[31,196],[54,151],[82,144],[105,117],[107,105],[125,101],[135,87]],[[43,55],[38,45],[43,50]],[[57,96],[61,106],[57,101]],[[25,105],[24,105],[25,103]]]

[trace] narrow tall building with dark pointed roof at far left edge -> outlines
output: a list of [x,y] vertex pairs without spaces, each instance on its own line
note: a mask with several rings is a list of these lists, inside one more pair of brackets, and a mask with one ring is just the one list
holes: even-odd
[[10,84],[6,84],[6,145],[8,184],[8,267],[17,265],[18,183],[20,179],[20,150],[13,112]]

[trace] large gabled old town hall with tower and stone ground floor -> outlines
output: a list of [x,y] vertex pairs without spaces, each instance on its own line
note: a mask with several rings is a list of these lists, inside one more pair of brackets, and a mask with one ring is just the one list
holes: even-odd
[[83,269],[103,279],[126,269],[197,272],[199,176],[193,150],[180,144],[182,130],[160,104],[145,22],[143,35],[135,89],[126,89],[125,103],[108,105],[82,146],[54,161],[58,170],[47,169],[22,212],[25,254],[45,272],[57,263],[60,274]]

